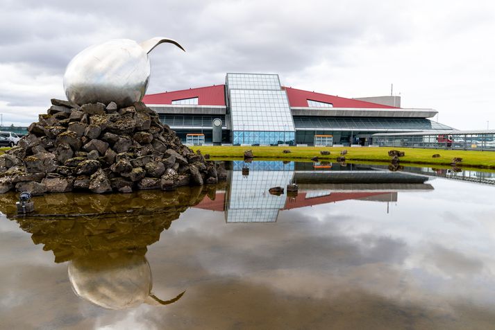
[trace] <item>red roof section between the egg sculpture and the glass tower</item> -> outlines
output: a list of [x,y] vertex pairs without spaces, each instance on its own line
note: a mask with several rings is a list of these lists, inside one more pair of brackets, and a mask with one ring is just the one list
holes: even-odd
[[225,105],[225,85],[190,88],[182,91],[145,95],[142,101],[146,104],[171,104],[172,101],[184,98],[198,98],[198,105]]

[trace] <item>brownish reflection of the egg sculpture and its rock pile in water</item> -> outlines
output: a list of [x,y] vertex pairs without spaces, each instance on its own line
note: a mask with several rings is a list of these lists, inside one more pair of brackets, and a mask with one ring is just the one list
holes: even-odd
[[205,194],[214,199],[215,191],[215,186],[196,186],[174,192],[36,196],[35,214],[18,218],[17,196],[8,193],[0,196],[0,211],[31,233],[35,244],[53,251],[57,263],[69,261],[69,280],[77,295],[107,309],[126,309],[182,297],[163,301],[151,294],[146,247]]

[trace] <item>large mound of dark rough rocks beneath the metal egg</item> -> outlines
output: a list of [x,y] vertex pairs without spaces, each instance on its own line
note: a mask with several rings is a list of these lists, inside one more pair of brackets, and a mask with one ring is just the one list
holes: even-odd
[[121,109],[114,102],[51,104],[0,156],[0,193],[168,191],[226,179],[224,164],[205,162],[142,102]]

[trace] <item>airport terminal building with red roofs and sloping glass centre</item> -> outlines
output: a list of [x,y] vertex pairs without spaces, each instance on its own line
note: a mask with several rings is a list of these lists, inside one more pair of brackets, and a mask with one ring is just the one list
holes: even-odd
[[378,132],[452,130],[397,96],[342,98],[280,85],[277,74],[227,73],[224,85],[149,94],[143,102],[192,144],[373,144]]

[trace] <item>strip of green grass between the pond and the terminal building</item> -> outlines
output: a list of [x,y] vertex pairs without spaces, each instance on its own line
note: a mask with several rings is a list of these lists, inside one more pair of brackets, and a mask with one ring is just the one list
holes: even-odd
[[[215,158],[242,158],[244,150],[252,150],[255,158],[299,160],[318,157],[321,160],[335,161],[340,156],[341,150],[347,150],[346,162],[390,162],[389,150],[401,150],[405,156],[401,157],[401,163],[432,164],[449,166],[454,157],[461,157],[462,162],[458,166],[473,168],[495,168],[495,152],[473,150],[436,150],[417,148],[324,148],[324,147],[261,147],[261,146],[194,146],[193,150],[200,149],[204,155],[210,154]],[[290,153],[283,153],[288,149]],[[320,155],[320,150],[330,151],[330,155]],[[439,154],[441,157],[433,158]]]

